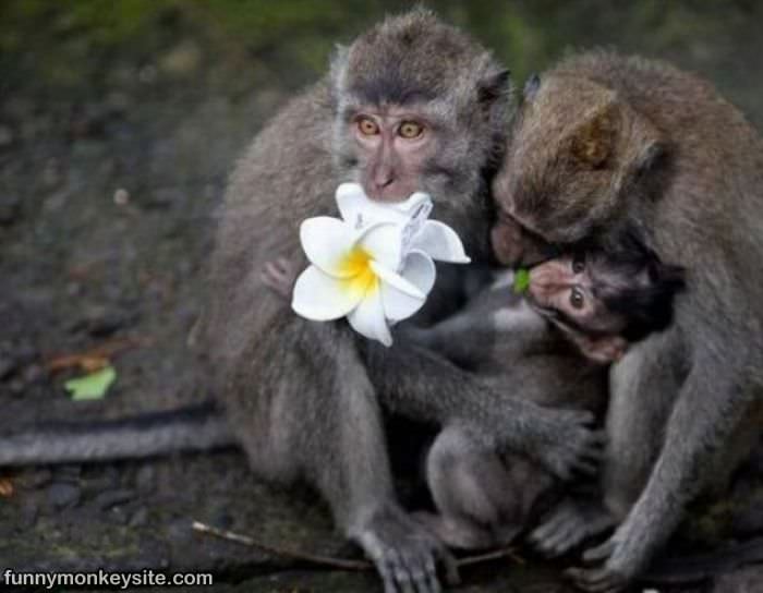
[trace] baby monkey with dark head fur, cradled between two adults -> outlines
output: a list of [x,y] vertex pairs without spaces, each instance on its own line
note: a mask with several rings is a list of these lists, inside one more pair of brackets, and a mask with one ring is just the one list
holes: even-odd
[[[438,353],[533,403],[594,414],[606,407],[607,364],[669,325],[683,286],[680,268],[640,243],[541,263],[522,294],[512,288],[513,271],[493,275],[458,314],[427,328],[403,323],[396,340]],[[263,281],[283,296],[294,278],[283,259],[263,271]],[[595,460],[589,469],[595,472]],[[425,473],[437,512],[417,518],[451,547],[508,544],[562,494],[548,472],[522,456],[486,448],[462,422],[443,427]]]

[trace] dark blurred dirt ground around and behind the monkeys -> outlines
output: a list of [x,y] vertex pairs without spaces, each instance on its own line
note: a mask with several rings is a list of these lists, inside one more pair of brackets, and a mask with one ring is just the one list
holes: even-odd
[[[315,9],[306,21],[269,15],[275,24],[254,20],[249,26],[259,28],[247,32],[237,28],[235,14],[225,20],[210,12],[210,3],[117,4],[123,13],[108,17],[70,2],[0,8],[2,432],[45,420],[172,409],[207,396],[194,388],[185,340],[199,312],[203,263],[226,176],[265,119],[325,69],[334,40],[349,38],[385,8],[372,3],[355,17]],[[128,14],[125,7],[138,4],[140,17]],[[292,4],[300,3],[287,2],[287,9]],[[590,11],[592,3],[585,4]],[[496,25],[475,24],[489,14],[487,5],[443,2],[443,10],[495,44],[501,35]],[[670,34],[668,23],[654,43],[665,57],[715,80],[760,123],[763,44],[760,36],[740,37],[760,15],[754,3],[735,5],[720,28],[712,15],[690,20],[687,34]],[[634,13],[623,14],[637,23]],[[535,13],[517,14],[524,21],[510,26],[526,41],[520,73],[533,57],[542,66],[558,48],[615,36],[604,14],[577,36],[560,36],[561,14],[538,40],[529,34]],[[638,36],[639,26],[650,26],[643,19],[622,43],[653,52]],[[507,62],[514,46],[499,50]],[[104,347],[113,349],[116,384],[102,401],[72,401],[63,383],[80,371],[55,371],[51,361]],[[763,535],[761,501],[758,456],[731,501],[690,523],[693,543],[681,550]],[[219,591],[380,591],[372,574],[316,570],[199,535],[193,520],[271,545],[352,554],[312,494],[259,483],[234,450],[0,471],[0,568],[208,571]],[[500,560],[464,571],[457,591],[571,591],[559,572],[530,558]],[[730,570],[715,582],[676,590],[761,591],[763,570]]]

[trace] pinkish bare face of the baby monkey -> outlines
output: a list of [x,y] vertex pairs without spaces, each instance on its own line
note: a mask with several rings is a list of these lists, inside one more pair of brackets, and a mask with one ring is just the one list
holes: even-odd
[[623,330],[627,319],[611,311],[600,294],[604,290],[611,294],[618,287],[637,281],[592,255],[565,255],[530,270],[528,295],[542,315],[562,329],[616,335]]

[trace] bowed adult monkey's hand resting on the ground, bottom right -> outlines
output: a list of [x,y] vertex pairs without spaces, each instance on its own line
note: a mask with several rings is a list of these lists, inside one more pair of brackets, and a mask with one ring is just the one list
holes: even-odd
[[588,565],[604,562],[597,567],[570,568],[565,574],[579,589],[591,593],[617,593],[635,579],[646,564],[644,541],[631,537],[628,521],[602,545],[583,554]]

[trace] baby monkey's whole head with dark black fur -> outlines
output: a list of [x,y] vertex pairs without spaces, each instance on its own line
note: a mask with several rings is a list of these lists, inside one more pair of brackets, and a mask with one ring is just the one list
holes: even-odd
[[645,247],[590,251],[532,268],[530,303],[590,359],[618,360],[630,343],[665,329],[683,270]]

